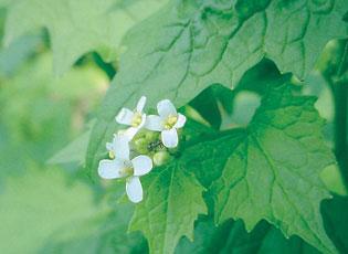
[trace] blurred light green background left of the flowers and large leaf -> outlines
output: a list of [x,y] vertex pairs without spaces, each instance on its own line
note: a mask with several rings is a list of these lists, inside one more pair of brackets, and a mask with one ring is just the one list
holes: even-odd
[[[3,20],[1,10],[1,38]],[[54,76],[44,31],[0,50],[1,253],[97,253],[108,252],[108,242],[126,241],[129,208],[112,209],[78,170],[109,82],[96,62],[91,54]],[[55,166],[55,152],[81,134],[72,160]],[[104,224],[113,218],[115,224]]]

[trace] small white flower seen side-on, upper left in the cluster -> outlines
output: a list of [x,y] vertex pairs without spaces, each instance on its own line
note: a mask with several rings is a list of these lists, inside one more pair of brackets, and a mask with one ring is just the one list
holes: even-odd
[[134,110],[124,107],[116,116],[116,121],[118,124],[130,126],[125,133],[129,139],[131,139],[145,125],[146,114],[143,113],[145,104],[146,97],[141,96],[137,103],[137,107]]

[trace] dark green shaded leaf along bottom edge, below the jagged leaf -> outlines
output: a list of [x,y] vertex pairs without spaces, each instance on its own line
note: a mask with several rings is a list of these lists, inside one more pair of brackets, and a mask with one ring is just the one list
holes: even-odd
[[242,221],[229,220],[215,226],[210,218],[200,218],[194,226],[194,241],[183,237],[176,253],[220,253],[220,254],[268,254],[302,253],[318,254],[319,252],[297,236],[285,239],[282,232],[265,221],[257,223],[247,233]]

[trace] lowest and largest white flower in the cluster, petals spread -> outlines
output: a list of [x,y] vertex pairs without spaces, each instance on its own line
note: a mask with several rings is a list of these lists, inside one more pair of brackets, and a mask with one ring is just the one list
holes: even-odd
[[101,160],[98,173],[104,179],[127,178],[127,195],[131,202],[138,203],[143,200],[139,177],[152,169],[152,160],[148,156],[137,156],[130,160],[128,141],[128,137],[116,135],[113,142],[106,145],[113,152],[113,159]]

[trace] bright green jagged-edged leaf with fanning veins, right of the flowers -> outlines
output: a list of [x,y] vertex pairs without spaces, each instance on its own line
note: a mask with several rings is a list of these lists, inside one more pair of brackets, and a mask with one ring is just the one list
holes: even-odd
[[242,219],[251,231],[262,219],[335,253],[320,216],[329,193],[321,170],[335,163],[325,146],[315,98],[294,96],[288,84],[271,87],[244,139],[213,183],[215,221]]

